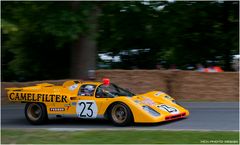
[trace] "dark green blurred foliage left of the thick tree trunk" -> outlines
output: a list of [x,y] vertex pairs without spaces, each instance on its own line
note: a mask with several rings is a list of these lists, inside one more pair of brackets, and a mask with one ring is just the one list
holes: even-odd
[[[68,76],[71,43],[87,30],[91,4],[73,11],[70,2],[3,2],[2,79]],[[12,27],[12,28],[9,28]],[[11,59],[10,59],[11,58]]]

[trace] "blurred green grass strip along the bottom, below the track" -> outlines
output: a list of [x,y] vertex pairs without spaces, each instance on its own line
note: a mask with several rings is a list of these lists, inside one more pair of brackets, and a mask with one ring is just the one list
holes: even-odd
[[1,130],[2,144],[239,144],[239,132]]

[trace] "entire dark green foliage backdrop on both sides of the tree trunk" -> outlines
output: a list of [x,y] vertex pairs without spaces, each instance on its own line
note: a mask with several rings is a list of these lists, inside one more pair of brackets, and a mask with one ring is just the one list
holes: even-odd
[[112,68],[216,61],[231,70],[239,48],[239,2],[2,2],[2,79],[59,79],[69,75],[70,48],[88,30],[93,5],[101,9],[99,52],[150,48],[122,56]]

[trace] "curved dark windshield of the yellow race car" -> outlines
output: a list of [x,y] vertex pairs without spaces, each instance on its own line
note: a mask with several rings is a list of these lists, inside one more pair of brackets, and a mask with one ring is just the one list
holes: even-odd
[[117,96],[128,96],[132,97],[135,94],[132,92],[125,90],[123,88],[118,87],[115,84],[110,85],[100,85],[97,89],[97,97],[105,96],[105,97],[117,97]]

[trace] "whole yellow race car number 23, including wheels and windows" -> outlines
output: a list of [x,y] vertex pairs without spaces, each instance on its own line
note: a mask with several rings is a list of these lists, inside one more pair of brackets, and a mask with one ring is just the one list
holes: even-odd
[[110,83],[69,80],[62,86],[49,83],[7,88],[8,99],[26,103],[25,116],[31,124],[51,117],[107,118],[118,126],[156,123],[185,118],[189,111],[169,95],[151,91],[135,95]]

